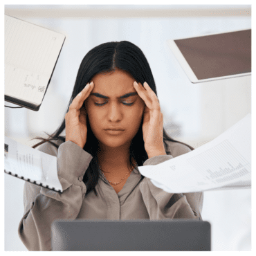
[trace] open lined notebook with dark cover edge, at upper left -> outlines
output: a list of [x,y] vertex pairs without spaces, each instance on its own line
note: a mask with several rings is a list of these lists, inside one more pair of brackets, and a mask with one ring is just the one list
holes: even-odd
[[65,35],[5,15],[5,100],[38,111]]

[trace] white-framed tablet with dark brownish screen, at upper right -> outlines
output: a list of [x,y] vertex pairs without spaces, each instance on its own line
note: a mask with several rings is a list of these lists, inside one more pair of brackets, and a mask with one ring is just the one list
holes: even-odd
[[192,83],[251,75],[251,29],[167,40]]

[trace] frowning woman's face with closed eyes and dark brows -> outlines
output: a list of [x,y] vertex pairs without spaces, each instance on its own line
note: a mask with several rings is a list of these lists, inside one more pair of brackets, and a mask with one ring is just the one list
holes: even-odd
[[[134,77],[116,70],[98,73],[91,81],[94,87],[85,106],[93,134],[108,147],[128,145],[138,132],[145,108],[134,89]],[[127,93],[132,95],[125,97]],[[107,130],[112,128],[122,131]]]

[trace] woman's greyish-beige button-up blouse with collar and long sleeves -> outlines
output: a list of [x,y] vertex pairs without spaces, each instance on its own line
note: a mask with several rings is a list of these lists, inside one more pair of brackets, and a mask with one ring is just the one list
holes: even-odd
[[[124,187],[116,193],[104,178],[85,196],[82,181],[93,158],[71,141],[58,140],[59,149],[44,143],[39,150],[57,156],[57,174],[63,193],[25,182],[24,216],[19,237],[28,250],[51,250],[51,223],[55,219],[198,219],[203,208],[203,192],[173,194],[157,188],[136,166]],[[190,152],[181,144],[167,142],[172,155],[154,156],[143,165],[157,165]]]

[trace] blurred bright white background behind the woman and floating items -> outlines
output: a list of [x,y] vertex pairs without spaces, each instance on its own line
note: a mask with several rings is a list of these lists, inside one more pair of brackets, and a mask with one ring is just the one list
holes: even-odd
[[[164,127],[176,140],[200,147],[251,113],[251,76],[192,84],[166,43],[250,29],[249,5],[6,5],[5,14],[66,35],[39,111],[5,108],[5,136],[24,145],[59,127],[84,55],[111,41],[132,42],[147,57]],[[4,176],[5,250],[27,250],[17,232],[25,181]],[[204,192],[202,217],[212,226],[212,250],[251,250],[251,190]]]

